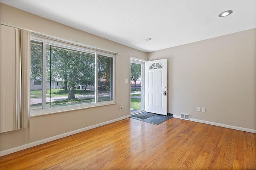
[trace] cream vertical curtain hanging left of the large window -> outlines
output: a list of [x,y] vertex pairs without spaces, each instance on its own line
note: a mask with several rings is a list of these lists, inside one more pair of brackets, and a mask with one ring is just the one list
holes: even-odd
[[30,32],[0,25],[0,132],[28,128]]

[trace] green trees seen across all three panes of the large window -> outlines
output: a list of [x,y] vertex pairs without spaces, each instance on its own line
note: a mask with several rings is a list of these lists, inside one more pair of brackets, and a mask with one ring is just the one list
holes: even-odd
[[[31,80],[42,81],[42,44],[31,43]],[[110,87],[112,58],[98,56],[98,81]],[[46,81],[64,80],[68,99],[75,99],[78,85],[94,85],[95,56],[46,44]]]

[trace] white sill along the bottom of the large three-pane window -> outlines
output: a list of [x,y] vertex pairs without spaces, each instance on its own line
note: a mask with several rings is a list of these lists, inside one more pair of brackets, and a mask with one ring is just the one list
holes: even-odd
[[94,107],[102,107],[102,106],[108,106],[108,105],[116,105],[117,103],[106,103],[101,105],[91,105],[86,107],[68,107],[68,108],[56,108],[56,109],[46,109],[46,110],[32,110],[30,111],[30,117],[38,117],[38,116],[44,116],[44,115],[51,115],[55,113],[63,113],[63,112],[69,112],[69,111],[76,111],[81,109],[89,109]]

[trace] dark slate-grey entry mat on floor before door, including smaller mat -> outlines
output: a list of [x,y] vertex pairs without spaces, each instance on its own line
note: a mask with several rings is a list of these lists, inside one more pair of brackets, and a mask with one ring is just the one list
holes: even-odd
[[[142,114],[142,116],[140,116],[140,114]],[[172,117],[166,116],[166,115],[158,115],[155,113],[142,112],[137,115],[132,115],[131,118],[137,119],[139,121],[144,121],[147,123],[152,123],[154,125],[159,125],[160,123],[163,123],[164,121],[167,121],[168,119],[171,119]],[[142,118],[144,118],[144,119],[142,119]]]

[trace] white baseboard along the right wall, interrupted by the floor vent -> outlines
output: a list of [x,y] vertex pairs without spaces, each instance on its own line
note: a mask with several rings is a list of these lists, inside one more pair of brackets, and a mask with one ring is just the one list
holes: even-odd
[[[180,116],[173,115],[172,117],[180,119]],[[225,124],[209,122],[209,121],[202,121],[202,120],[199,120],[199,119],[191,119],[191,118],[190,118],[190,121],[198,122],[198,123],[204,123],[204,124],[208,124],[208,125],[214,125],[214,126],[218,126],[218,127],[232,128],[232,129],[235,129],[235,130],[241,130],[241,131],[250,132],[250,133],[256,133],[256,130],[250,129],[250,128],[236,127],[236,126],[225,125]]]

